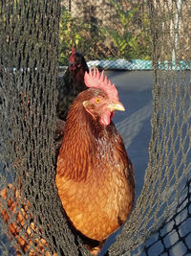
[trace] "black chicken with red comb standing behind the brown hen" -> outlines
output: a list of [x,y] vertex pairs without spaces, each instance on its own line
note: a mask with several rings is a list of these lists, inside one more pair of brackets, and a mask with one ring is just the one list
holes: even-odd
[[85,72],[89,72],[85,58],[75,53],[74,46],[72,54],[69,58],[69,67],[64,76],[58,77],[57,90],[58,99],[56,106],[56,130],[55,130],[55,149],[59,150],[64,136],[64,126],[70,106],[74,102],[75,97],[83,90],[87,89],[84,82]]

